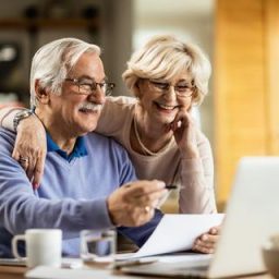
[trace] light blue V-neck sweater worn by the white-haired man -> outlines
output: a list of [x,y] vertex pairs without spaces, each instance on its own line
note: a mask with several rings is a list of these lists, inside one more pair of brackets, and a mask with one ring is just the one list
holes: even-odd
[[[69,160],[61,150],[48,148],[44,178],[34,192],[11,157],[14,133],[0,130],[0,256],[12,256],[12,236],[29,228],[62,229],[63,254],[77,256],[81,230],[112,227],[106,198],[120,185],[136,180],[134,169],[113,140],[89,133],[82,141],[84,148]],[[145,226],[118,230],[141,246],[160,218],[156,211]]]

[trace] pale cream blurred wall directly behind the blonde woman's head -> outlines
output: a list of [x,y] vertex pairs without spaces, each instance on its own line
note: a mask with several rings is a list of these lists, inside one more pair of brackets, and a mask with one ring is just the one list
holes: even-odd
[[[181,39],[194,41],[213,61],[214,53],[214,0],[134,0],[133,48],[136,49],[151,35],[172,34]],[[214,70],[214,69],[213,69]],[[204,133],[214,145],[213,119],[214,88],[201,106],[201,120]]]

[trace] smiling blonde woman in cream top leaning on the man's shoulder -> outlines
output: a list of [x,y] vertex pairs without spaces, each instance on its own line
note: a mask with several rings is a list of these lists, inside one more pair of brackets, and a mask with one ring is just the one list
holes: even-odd
[[[108,97],[96,131],[126,148],[140,179],[179,185],[180,213],[216,213],[210,145],[191,117],[208,92],[210,63],[203,51],[172,36],[156,36],[132,54],[122,76],[136,98]],[[14,129],[15,111],[3,114],[2,124]],[[34,174],[35,187],[44,169],[44,135],[36,117],[27,118],[17,128],[13,151],[17,160],[28,158],[23,167],[29,178]],[[211,253],[216,234],[213,228],[194,250]]]

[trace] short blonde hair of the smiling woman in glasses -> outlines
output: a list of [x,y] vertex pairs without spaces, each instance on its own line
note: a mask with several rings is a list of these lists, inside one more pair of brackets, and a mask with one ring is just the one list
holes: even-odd
[[140,78],[170,80],[184,72],[190,74],[196,87],[193,104],[199,105],[208,93],[210,62],[197,46],[165,35],[153,37],[132,54],[122,78],[136,95]]

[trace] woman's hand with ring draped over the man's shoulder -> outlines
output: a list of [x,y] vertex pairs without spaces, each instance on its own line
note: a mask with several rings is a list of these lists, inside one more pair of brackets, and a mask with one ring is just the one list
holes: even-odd
[[36,116],[22,120],[17,126],[12,157],[24,168],[34,189],[39,186],[46,154],[46,132],[41,122]]

